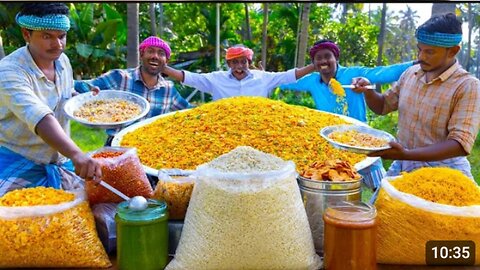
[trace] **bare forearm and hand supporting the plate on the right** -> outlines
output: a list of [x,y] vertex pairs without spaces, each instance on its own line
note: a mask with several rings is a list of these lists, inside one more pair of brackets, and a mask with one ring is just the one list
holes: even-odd
[[462,145],[452,139],[415,149],[405,149],[396,142],[391,142],[390,146],[392,148],[374,152],[369,156],[394,160],[437,161],[467,155]]

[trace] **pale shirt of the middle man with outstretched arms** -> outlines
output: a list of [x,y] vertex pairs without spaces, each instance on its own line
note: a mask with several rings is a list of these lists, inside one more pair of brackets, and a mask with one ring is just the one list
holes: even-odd
[[212,95],[213,100],[235,96],[269,97],[272,90],[286,83],[296,82],[295,68],[283,72],[249,70],[242,80],[232,74],[232,70],[211,73],[184,71],[183,84]]

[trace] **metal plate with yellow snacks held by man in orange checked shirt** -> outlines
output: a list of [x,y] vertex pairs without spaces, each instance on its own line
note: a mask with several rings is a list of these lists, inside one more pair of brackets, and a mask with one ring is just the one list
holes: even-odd
[[324,127],[320,135],[333,147],[354,152],[370,154],[390,148],[395,137],[383,131],[365,125],[335,125]]

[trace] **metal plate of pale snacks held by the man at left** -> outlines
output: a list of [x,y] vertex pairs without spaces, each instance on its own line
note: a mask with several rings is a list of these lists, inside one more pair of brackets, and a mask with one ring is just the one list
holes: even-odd
[[134,93],[102,90],[97,95],[87,92],[72,97],[63,110],[70,119],[85,126],[116,129],[145,117],[150,111],[150,104]]

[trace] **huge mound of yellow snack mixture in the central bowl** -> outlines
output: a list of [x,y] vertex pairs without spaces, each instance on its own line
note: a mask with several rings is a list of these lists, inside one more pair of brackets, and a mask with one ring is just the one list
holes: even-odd
[[331,158],[363,160],[320,136],[321,128],[338,124],[346,121],[268,98],[234,97],[159,118],[126,134],[121,145],[136,147],[142,163],[156,169],[195,169],[240,145],[293,160],[297,168]]

